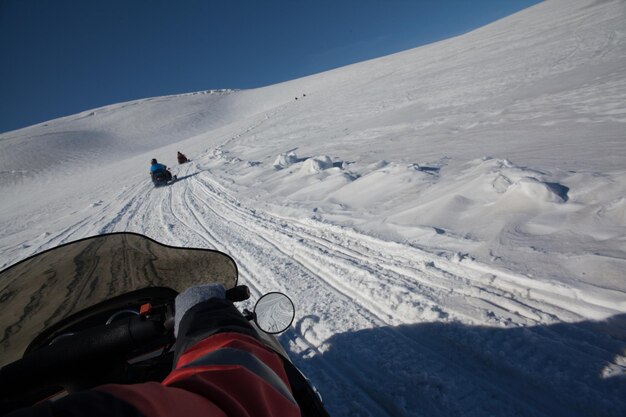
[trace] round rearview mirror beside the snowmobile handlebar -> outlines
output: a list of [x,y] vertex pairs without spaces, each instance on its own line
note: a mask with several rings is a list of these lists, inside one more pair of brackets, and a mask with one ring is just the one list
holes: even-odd
[[280,292],[270,292],[259,298],[254,306],[255,323],[265,333],[284,332],[291,326],[296,309],[289,297]]

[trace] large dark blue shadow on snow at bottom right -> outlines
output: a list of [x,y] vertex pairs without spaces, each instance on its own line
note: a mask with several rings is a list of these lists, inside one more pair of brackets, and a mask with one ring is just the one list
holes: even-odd
[[[318,321],[300,319],[283,342]],[[516,328],[381,327],[327,345],[293,359],[335,417],[626,415],[626,314]]]

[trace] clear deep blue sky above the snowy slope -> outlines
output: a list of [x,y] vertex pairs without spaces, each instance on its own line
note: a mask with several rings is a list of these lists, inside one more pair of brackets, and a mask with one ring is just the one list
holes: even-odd
[[0,132],[252,88],[468,32],[539,0],[0,0]]

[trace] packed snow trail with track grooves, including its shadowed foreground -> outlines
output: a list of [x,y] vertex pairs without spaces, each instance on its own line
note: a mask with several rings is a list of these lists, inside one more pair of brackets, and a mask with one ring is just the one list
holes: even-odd
[[103,205],[102,225],[79,223],[63,239],[98,226],[229,253],[254,299],[283,291],[295,300],[281,340],[331,415],[626,411],[626,382],[612,377],[624,373],[626,345],[580,314],[610,315],[610,306],[568,302],[563,289],[460,255],[273,215],[195,163],[177,173],[169,187],[146,179],[124,190],[117,213]]

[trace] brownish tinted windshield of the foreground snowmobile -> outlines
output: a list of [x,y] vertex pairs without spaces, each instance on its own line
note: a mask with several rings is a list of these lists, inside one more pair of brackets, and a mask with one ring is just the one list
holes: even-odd
[[237,285],[237,265],[208,249],[177,248],[136,233],[68,243],[0,272],[0,366],[22,357],[43,330],[81,310],[134,290]]

